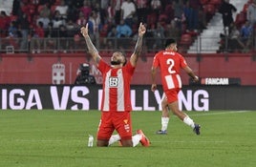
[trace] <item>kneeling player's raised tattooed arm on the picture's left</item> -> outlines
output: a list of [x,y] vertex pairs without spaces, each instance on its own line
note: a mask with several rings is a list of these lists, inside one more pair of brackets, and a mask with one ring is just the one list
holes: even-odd
[[90,36],[89,36],[89,33],[88,33],[88,23],[86,24],[85,27],[82,27],[80,29],[84,39],[85,39],[85,42],[86,42],[86,45],[87,45],[87,48],[88,48],[88,51],[89,53],[92,55],[93,59],[96,61],[96,64],[99,63],[99,60],[101,59],[100,55],[98,54],[98,52],[96,51],[96,47],[94,46]]

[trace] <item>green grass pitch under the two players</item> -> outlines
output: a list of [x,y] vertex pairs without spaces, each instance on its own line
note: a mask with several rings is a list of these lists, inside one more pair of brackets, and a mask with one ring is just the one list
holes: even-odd
[[168,135],[159,136],[160,112],[133,112],[151,146],[87,147],[96,137],[98,111],[1,111],[1,167],[252,167],[256,166],[256,112],[187,112],[202,135],[171,115]]

